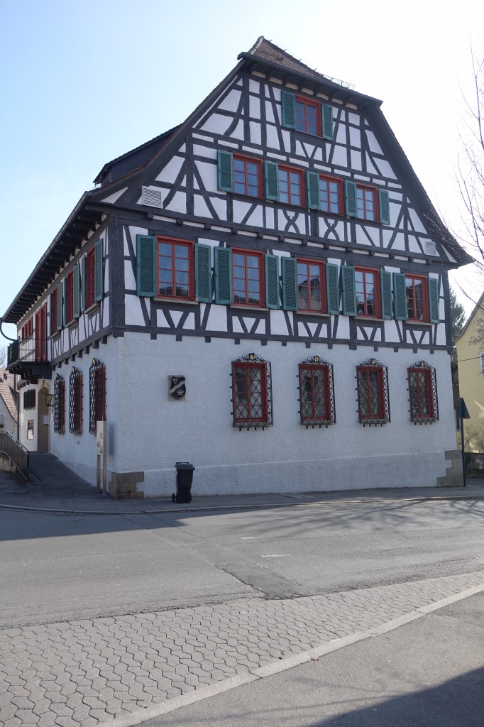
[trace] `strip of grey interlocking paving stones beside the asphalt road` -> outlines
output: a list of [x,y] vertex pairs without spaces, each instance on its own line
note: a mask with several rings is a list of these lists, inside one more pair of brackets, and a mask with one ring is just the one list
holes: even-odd
[[[344,593],[232,601],[0,630],[0,725],[129,715],[366,631],[484,582],[484,572]],[[136,715],[133,715],[135,717]]]

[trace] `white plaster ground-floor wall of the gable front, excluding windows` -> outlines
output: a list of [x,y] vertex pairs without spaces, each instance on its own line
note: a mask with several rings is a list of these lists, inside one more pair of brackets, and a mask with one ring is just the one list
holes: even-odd
[[[409,420],[406,370],[422,354],[382,350],[375,356],[388,366],[392,421],[363,427],[357,417],[355,366],[370,354],[362,350],[206,343],[199,337],[150,340],[143,334],[126,334],[113,345],[119,381],[133,379],[142,361],[142,375],[118,398],[112,446],[116,471],[145,472],[147,497],[174,491],[177,461],[195,465],[194,494],[434,486],[445,474],[445,449],[456,446],[446,353],[427,357],[437,369],[439,422],[414,426]],[[232,425],[230,364],[251,351],[273,366],[274,426],[264,431]],[[337,423],[328,429],[299,423],[297,364],[315,354],[334,364]],[[170,374],[187,377],[185,401],[169,401]]]

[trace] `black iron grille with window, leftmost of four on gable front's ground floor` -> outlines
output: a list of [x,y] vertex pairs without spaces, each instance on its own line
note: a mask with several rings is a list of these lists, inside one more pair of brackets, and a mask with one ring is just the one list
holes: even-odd
[[273,425],[273,392],[270,361],[248,353],[232,361],[233,426],[265,430]]

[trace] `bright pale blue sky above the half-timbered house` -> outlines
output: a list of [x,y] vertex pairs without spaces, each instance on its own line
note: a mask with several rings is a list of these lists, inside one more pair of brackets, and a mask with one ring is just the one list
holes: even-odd
[[482,0],[4,0],[0,315],[102,165],[179,124],[259,35],[384,100],[429,196],[458,227],[461,88],[483,21]]

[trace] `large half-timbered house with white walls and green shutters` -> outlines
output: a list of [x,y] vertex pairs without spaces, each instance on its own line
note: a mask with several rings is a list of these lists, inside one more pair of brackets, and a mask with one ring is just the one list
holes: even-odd
[[138,497],[177,461],[197,494],[445,482],[471,258],[380,105],[260,38],[105,164],[4,315],[23,443],[94,483],[105,419],[110,491]]

